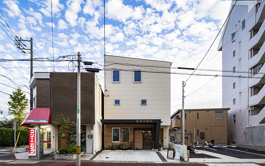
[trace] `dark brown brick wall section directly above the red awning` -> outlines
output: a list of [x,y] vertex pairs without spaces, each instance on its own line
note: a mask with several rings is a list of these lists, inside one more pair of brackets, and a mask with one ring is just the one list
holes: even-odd
[[50,108],[50,79],[36,79],[36,107]]

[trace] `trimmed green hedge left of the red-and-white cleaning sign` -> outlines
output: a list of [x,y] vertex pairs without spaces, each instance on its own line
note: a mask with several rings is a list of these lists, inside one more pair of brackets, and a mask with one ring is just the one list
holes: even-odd
[[[20,132],[19,138],[18,133]],[[13,129],[0,128],[0,147],[14,146],[15,131]],[[18,139],[17,146],[29,145],[29,130],[16,130],[16,141]]]

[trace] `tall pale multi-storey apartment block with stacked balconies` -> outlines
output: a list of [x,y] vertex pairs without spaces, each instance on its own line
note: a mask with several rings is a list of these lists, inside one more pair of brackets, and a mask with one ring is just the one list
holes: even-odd
[[[223,107],[231,108],[229,143],[265,144],[264,4],[264,0],[232,1],[218,46],[218,51],[222,51],[223,75],[235,76],[222,79]],[[229,137],[231,132],[233,138]]]

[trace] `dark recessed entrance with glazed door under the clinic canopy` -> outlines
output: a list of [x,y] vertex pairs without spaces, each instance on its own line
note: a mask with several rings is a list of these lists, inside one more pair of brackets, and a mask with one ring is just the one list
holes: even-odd
[[[142,136],[141,142],[142,142],[142,148],[143,149],[153,149],[153,129],[134,129],[134,135],[135,136],[136,135]],[[137,138],[137,136],[135,138]],[[138,143],[138,145],[139,145],[139,143]]]

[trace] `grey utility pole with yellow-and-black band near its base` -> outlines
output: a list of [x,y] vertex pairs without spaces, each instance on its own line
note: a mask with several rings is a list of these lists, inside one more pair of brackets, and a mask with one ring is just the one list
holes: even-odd
[[76,123],[76,166],[80,166],[80,153],[81,153],[81,112],[80,112],[80,52],[77,53],[77,123]]

